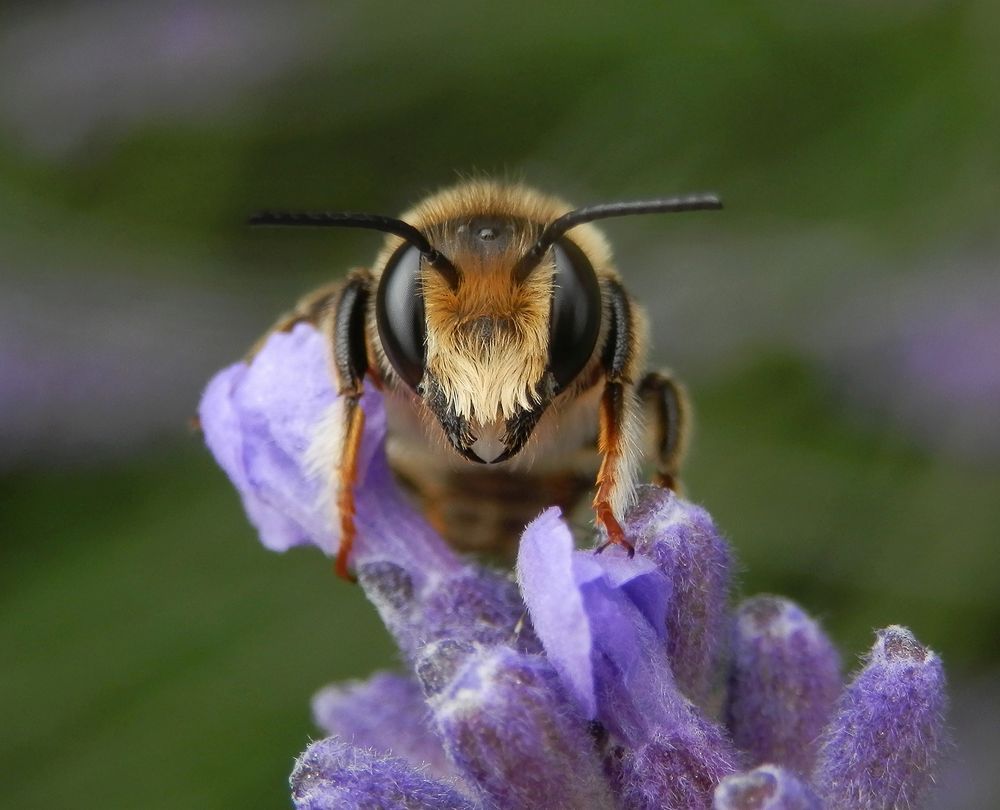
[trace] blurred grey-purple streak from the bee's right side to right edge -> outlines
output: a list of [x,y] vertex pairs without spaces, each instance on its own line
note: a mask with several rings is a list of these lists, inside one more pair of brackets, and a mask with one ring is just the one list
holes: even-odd
[[791,351],[822,369],[854,414],[935,455],[995,467],[998,256],[993,239],[890,259],[856,234],[814,228],[671,245],[666,256],[648,248],[621,264],[662,266],[632,289],[648,303],[653,345],[670,346],[667,359],[689,374],[718,378],[752,356],[748,347]]

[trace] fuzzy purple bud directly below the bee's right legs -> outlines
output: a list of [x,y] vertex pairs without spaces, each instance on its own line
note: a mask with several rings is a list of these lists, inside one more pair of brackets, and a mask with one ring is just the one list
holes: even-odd
[[678,686],[702,702],[724,653],[732,553],[708,513],[659,487],[644,486],[626,516],[638,554],[672,585],[664,636]]

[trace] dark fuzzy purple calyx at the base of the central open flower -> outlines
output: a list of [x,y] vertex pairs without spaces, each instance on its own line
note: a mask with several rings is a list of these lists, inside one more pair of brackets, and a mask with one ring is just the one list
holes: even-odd
[[689,704],[648,742],[613,748],[605,767],[620,806],[627,810],[699,810],[712,806],[716,785],[735,770],[736,761],[722,728]]

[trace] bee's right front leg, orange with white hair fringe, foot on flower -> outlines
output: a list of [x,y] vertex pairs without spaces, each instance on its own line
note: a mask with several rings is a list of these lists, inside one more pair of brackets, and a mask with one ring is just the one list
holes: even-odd
[[607,376],[600,405],[597,449],[601,454],[601,468],[597,473],[593,508],[597,523],[604,527],[608,536],[598,552],[614,544],[626,549],[631,557],[635,549],[625,538],[614,507],[622,501],[620,488],[628,486],[632,480],[634,454],[629,448],[638,420],[630,375],[635,362],[637,326],[621,285],[610,282],[607,293],[611,304],[611,329],[601,354]]

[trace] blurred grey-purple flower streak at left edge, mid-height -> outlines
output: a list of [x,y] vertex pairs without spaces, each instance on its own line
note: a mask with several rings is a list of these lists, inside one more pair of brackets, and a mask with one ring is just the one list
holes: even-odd
[[242,351],[269,317],[266,291],[254,291],[257,303],[125,270],[60,273],[31,268],[8,248],[0,248],[0,471],[93,463],[183,436],[218,358]]

